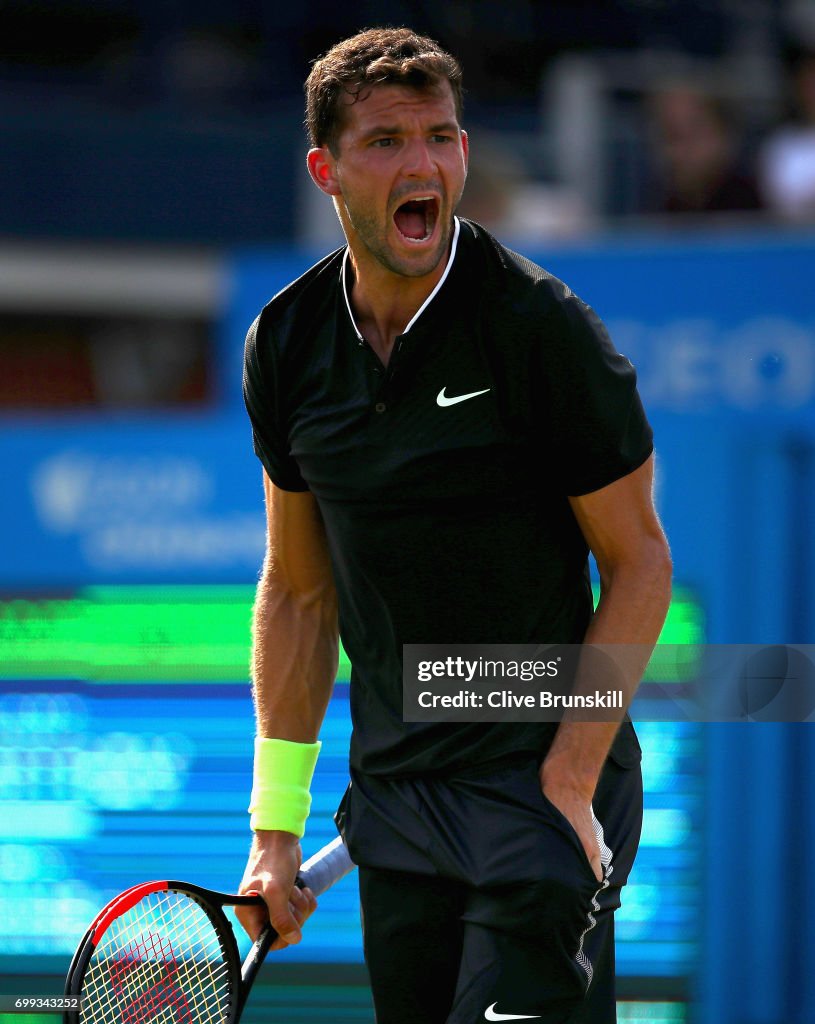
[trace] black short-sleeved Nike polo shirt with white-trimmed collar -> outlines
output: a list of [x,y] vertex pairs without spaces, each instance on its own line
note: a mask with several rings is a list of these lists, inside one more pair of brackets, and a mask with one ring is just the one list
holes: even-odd
[[588,547],[567,496],[649,456],[634,368],[565,285],[467,220],[385,368],[354,324],[345,255],[263,309],[244,390],[269,477],[311,490],[323,515],[351,766],[454,772],[543,754],[551,723],[403,722],[401,647],[583,639]]

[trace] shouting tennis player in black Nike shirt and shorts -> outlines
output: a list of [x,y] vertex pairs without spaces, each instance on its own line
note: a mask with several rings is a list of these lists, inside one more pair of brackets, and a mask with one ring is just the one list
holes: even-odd
[[[635,372],[565,285],[456,216],[461,71],[434,41],[362,32],[314,63],[306,94],[308,171],[347,245],[247,339],[268,549],[242,890],[263,894],[281,944],[299,940],[314,901],[293,881],[339,631],[353,736],[337,821],[379,1024],[607,1024],[642,815],[630,720],[405,723],[401,654],[650,650],[671,561]],[[259,913],[244,925],[254,935]]]

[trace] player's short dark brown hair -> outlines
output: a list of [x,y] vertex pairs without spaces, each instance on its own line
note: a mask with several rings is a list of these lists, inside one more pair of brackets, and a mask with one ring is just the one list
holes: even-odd
[[337,151],[343,127],[343,93],[356,102],[375,85],[403,85],[419,92],[449,82],[456,115],[462,115],[459,61],[427,36],[410,29],[364,29],[314,61],[305,82],[306,127],[311,145]]

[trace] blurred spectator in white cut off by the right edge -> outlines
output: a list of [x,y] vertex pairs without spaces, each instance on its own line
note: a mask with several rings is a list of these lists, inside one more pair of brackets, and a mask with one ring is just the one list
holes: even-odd
[[790,110],[761,157],[768,206],[789,220],[815,219],[815,45],[788,55]]

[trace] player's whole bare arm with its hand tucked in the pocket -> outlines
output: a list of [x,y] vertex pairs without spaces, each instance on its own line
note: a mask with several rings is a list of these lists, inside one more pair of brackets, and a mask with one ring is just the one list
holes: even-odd
[[[584,642],[626,645],[613,659],[626,703],[634,696],[671,601],[671,554],[653,506],[653,458],[608,486],[569,498],[600,573],[600,600]],[[618,726],[562,721],[541,766],[541,786],[573,825],[598,881],[602,867],[591,804]]]

